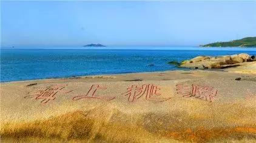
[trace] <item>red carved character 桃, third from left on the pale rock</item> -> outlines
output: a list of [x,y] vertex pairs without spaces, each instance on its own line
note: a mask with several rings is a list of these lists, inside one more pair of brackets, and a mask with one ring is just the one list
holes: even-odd
[[170,98],[159,98],[161,93],[159,93],[160,88],[153,84],[143,84],[132,85],[127,88],[125,93],[122,93],[124,96],[128,96],[128,101],[133,102],[136,99],[140,99],[144,96],[146,100],[149,101],[166,101]]

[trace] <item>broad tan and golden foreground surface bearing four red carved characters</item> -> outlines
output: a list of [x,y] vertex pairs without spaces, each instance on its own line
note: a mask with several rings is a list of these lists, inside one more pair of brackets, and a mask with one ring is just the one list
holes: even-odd
[[256,142],[256,75],[234,71],[4,82],[1,141]]

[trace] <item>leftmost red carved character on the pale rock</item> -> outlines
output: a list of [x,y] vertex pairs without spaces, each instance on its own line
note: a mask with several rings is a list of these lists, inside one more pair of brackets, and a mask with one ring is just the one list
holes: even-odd
[[42,90],[36,90],[28,93],[28,96],[25,98],[35,98],[42,99],[41,103],[45,104],[50,100],[54,100],[56,98],[57,93],[69,93],[72,90],[64,90],[64,85],[50,85]]

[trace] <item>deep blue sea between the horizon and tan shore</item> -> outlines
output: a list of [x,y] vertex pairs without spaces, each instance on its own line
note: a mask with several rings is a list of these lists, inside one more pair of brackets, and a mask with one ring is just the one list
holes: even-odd
[[71,76],[179,70],[181,62],[199,55],[256,55],[256,48],[183,48],[182,50],[10,49],[1,48],[1,82]]

